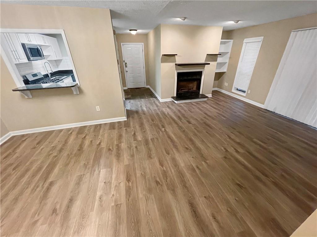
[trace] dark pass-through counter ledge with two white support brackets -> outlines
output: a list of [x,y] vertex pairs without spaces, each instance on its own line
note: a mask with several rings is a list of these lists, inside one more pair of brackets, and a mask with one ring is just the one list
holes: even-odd
[[77,82],[62,82],[62,83],[47,83],[47,84],[35,84],[25,85],[12,89],[12,91],[18,91],[25,96],[25,98],[32,98],[31,90],[45,90],[45,89],[57,89],[57,88],[71,88],[74,94],[79,94],[79,85]]

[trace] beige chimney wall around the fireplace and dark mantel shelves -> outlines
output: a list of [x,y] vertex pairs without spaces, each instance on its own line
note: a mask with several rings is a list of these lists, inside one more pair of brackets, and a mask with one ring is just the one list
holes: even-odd
[[207,53],[218,53],[221,33],[222,27],[161,24],[161,54],[178,54],[161,58],[162,99],[174,96],[175,70],[193,69],[175,66],[175,62],[210,62],[195,68],[205,69],[203,94],[211,94],[217,56],[207,56]]

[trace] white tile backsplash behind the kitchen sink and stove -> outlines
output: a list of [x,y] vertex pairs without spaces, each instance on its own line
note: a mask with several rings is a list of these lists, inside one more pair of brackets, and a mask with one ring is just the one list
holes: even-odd
[[[44,67],[45,62],[49,62],[53,71],[72,70],[72,66],[70,64],[70,60],[68,57],[63,57],[63,59],[60,60],[43,59],[37,61],[30,61],[28,63],[16,64],[16,68],[21,76],[35,72],[41,72],[42,74],[46,74],[47,72]],[[46,66],[48,69],[50,69],[47,64]]]

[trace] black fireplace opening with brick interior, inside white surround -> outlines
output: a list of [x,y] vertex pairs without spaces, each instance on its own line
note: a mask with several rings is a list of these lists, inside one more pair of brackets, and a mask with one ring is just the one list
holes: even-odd
[[177,72],[176,96],[198,96],[203,71]]

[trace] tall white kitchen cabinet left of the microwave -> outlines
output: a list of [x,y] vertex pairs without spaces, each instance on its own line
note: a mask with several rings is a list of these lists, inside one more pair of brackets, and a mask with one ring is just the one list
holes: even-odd
[[16,33],[1,33],[1,42],[15,64],[29,62]]

